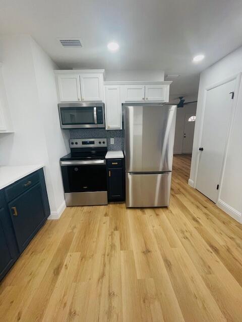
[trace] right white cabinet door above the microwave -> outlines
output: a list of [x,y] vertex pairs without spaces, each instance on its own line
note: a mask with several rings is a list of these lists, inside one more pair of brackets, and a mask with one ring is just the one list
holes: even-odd
[[102,101],[102,76],[94,73],[80,73],[82,101]]

